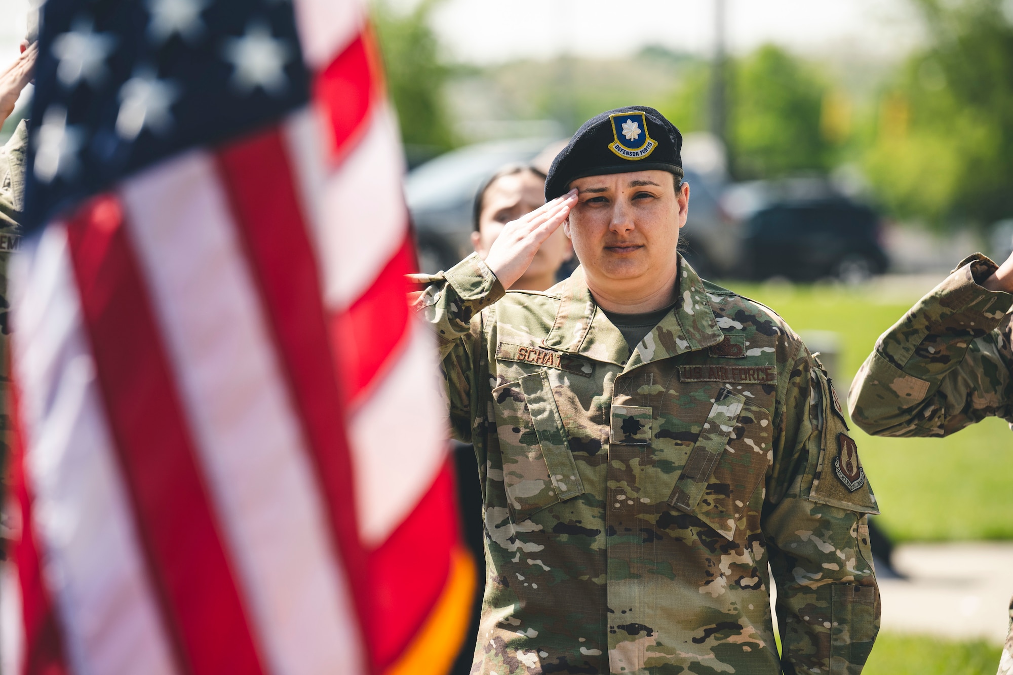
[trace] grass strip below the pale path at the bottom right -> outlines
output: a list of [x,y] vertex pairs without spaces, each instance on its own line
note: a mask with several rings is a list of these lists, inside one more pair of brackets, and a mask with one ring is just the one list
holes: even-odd
[[984,642],[880,633],[862,675],[995,675],[1001,653]]

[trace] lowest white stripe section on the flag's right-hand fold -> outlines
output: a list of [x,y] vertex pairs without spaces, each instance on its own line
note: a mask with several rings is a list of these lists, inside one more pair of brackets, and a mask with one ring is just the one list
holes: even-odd
[[414,509],[446,459],[447,403],[433,334],[409,322],[408,343],[348,421],[360,533],[376,545]]

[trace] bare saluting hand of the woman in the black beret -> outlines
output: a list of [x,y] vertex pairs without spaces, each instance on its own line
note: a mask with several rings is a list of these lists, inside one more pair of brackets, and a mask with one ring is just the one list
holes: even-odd
[[503,226],[485,256],[485,265],[503,288],[509,289],[527,272],[542,242],[566,221],[575,204],[576,190],[571,190]]

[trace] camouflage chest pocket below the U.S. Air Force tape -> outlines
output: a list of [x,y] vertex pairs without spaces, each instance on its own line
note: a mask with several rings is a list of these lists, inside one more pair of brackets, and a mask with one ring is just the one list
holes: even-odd
[[669,504],[691,513],[731,540],[750,518],[750,501],[766,475],[771,457],[771,424],[766,409],[721,389],[714,397],[700,437],[690,451]]

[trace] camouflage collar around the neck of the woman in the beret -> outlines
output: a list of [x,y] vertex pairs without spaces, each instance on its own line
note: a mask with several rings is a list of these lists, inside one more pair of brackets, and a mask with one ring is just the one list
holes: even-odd
[[624,366],[624,372],[653,361],[694,352],[724,339],[700,277],[679,256],[679,297],[675,307],[629,355],[626,340],[595,302],[583,269],[561,284],[559,311],[546,347],[595,361]]

